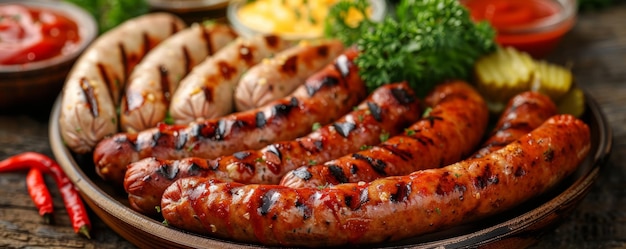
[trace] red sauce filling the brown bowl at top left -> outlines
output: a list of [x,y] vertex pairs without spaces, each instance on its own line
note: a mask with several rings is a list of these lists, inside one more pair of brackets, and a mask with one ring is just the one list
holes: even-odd
[[73,51],[78,25],[57,12],[18,4],[0,5],[0,65],[18,65]]

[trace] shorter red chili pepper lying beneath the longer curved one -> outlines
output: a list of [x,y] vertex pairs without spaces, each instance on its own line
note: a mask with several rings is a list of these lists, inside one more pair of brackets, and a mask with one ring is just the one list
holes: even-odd
[[43,217],[46,224],[52,223],[52,211],[54,206],[52,205],[52,196],[46,182],[43,178],[43,173],[37,168],[31,168],[26,175],[26,187],[30,198],[33,199],[33,203],[37,209],[39,209],[39,215]]

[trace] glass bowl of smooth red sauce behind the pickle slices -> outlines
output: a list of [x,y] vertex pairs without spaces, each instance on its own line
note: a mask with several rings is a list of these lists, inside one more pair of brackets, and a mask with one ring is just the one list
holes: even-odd
[[541,58],[576,22],[576,0],[461,0],[475,21],[488,21],[501,46]]

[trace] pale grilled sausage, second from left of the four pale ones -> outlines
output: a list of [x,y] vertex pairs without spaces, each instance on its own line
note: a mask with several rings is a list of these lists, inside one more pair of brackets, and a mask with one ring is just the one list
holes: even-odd
[[164,121],[181,78],[236,37],[228,25],[194,23],[152,49],[128,79],[120,108],[122,131],[138,132]]

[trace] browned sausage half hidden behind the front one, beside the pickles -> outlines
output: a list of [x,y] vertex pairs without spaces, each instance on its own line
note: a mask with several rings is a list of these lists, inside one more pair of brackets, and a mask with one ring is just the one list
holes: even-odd
[[539,92],[515,95],[500,114],[491,135],[472,157],[483,157],[517,140],[558,113],[554,102]]

